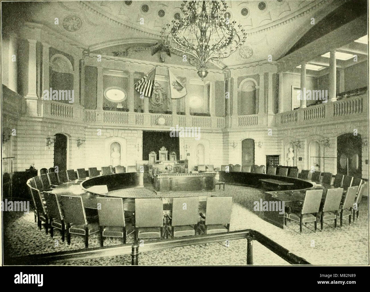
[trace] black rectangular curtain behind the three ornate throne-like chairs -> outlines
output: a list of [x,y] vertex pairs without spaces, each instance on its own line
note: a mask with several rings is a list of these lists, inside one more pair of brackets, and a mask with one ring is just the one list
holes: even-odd
[[[142,160],[149,160],[149,153],[154,151],[159,159],[159,149],[165,146],[169,153],[176,152],[177,160],[180,160],[180,139],[170,137],[170,132],[142,131]],[[169,157],[167,157],[169,159]]]

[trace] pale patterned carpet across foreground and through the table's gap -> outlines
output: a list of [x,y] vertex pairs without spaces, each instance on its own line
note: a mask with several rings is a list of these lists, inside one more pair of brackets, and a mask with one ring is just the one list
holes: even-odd
[[[364,265],[368,264],[368,198],[364,197],[360,217],[351,226],[348,219],[343,227],[334,229],[333,221],[324,222],[324,230],[313,232],[313,223],[303,226],[288,223],[280,229],[262,218],[262,212],[253,211],[253,202],[263,198],[263,192],[242,186],[226,185],[225,191],[216,190],[214,195],[232,196],[230,230],[255,229],[270,239],[289,249],[297,256],[315,265]],[[199,193],[204,195],[204,193]],[[55,230],[54,238],[46,235],[45,229],[38,230],[33,212],[3,212],[4,252],[9,256],[21,256],[65,250],[84,249],[83,236],[72,235],[71,245],[62,242],[60,233]],[[319,226],[319,225],[318,225]],[[58,240],[56,242],[55,240]],[[133,240],[132,235],[127,243]],[[122,244],[122,239],[106,239],[104,246]],[[89,248],[99,247],[98,234],[90,236]],[[287,265],[283,259],[270,252],[258,242],[253,242],[253,261],[255,265]],[[115,256],[83,261],[66,262],[67,265],[130,265],[131,257]],[[185,246],[168,250],[158,250],[139,254],[139,265],[245,265],[246,240],[232,240],[229,247],[225,243],[209,243],[202,246]]]

